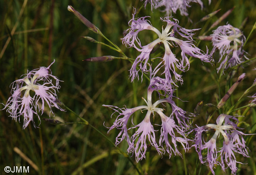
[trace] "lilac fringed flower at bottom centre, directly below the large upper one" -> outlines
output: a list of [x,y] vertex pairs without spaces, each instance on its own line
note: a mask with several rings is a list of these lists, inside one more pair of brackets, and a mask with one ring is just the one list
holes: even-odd
[[[137,162],[145,158],[145,154],[147,151],[146,140],[149,141],[151,146],[155,147],[155,149],[159,154],[162,154],[162,152],[165,152],[163,148],[164,147],[163,143],[165,143],[166,151],[169,153],[170,156],[172,155],[172,152],[174,153],[174,155],[181,155],[177,149],[177,142],[180,142],[182,147],[186,151],[189,148],[189,145],[188,145],[189,140],[186,138],[185,132],[189,128],[189,125],[187,124],[189,123],[188,122],[189,117],[187,117],[187,115],[191,115],[191,114],[186,113],[184,110],[176,106],[176,104],[172,100],[173,90],[170,90],[168,89],[168,87],[163,85],[164,81],[165,80],[159,77],[154,77],[153,79],[151,79],[151,83],[147,91],[148,92],[147,100],[143,98],[143,100],[147,104],[146,106],[138,106],[132,109],[127,109],[125,107],[120,109],[117,106],[110,106],[105,104],[102,105],[102,106],[110,107],[113,110],[115,110],[114,113],[118,113],[116,121],[109,128],[108,133],[110,132],[110,130],[114,128],[120,129],[121,131],[116,137],[116,145],[118,145],[121,141],[125,139],[129,145],[127,152],[132,154],[135,153]],[[170,94],[170,96],[165,99],[159,99],[155,103],[153,103],[151,95],[153,91],[158,91],[158,90],[163,90],[163,91],[169,90],[167,93]],[[164,102],[170,103],[170,105],[172,106],[172,114],[170,115],[170,117],[167,117],[165,114],[163,114],[164,109],[157,107],[160,103],[164,103]],[[138,110],[141,110],[141,111],[147,110],[147,113],[142,122],[132,127],[132,128],[138,128],[138,129],[130,137],[128,130],[132,128],[127,129],[128,128],[127,123],[129,118],[133,115],[133,113],[135,113],[135,111],[138,111]],[[154,130],[154,127],[150,122],[151,114],[153,114],[154,116],[154,113],[159,114],[162,120],[162,125],[161,125],[162,128],[161,128],[161,136],[159,139],[159,144],[155,136],[156,130]],[[174,115],[178,123],[174,121]],[[177,137],[176,136],[177,134],[179,134],[181,137]],[[169,143],[169,138],[172,140],[173,147]]]

